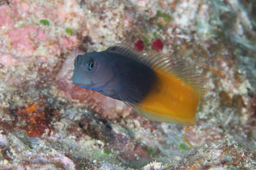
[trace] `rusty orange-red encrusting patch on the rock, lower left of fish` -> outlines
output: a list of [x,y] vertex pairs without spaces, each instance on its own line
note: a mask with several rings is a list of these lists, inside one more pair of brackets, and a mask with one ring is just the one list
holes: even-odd
[[27,131],[29,137],[42,136],[46,129],[50,129],[49,132],[51,132],[53,130],[51,119],[56,115],[59,115],[57,110],[49,109],[41,101],[28,103],[27,106],[18,108],[16,111],[16,119],[23,122],[21,128]]

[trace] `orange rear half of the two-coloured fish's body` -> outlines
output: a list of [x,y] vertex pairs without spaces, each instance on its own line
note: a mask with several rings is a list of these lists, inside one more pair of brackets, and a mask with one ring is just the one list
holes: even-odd
[[151,113],[142,113],[151,120],[194,125],[199,100],[191,85],[172,74],[156,71],[156,84],[138,108]]

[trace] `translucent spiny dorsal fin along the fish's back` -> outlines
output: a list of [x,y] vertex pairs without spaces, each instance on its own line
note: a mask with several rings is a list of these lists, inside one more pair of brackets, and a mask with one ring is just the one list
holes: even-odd
[[130,45],[124,43],[116,43],[107,49],[108,52],[120,54],[134,61],[145,64],[153,70],[161,70],[166,74],[173,74],[185,83],[192,86],[193,90],[202,97],[204,94],[203,78],[199,70],[190,66],[182,59],[169,54],[142,55],[137,53]]

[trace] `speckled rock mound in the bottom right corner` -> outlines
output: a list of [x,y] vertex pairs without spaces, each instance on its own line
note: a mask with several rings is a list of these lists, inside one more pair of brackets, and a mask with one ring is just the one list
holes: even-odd
[[[193,149],[188,155],[181,156],[177,165],[171,161],[169,169],[178,170],[253,170],[256,167],[256,153],[254,150],[243,148],[232,137],[224,137],[210,144]],[[186,160],[186,161],[185,161]],[[175,166],[174,166],[175,165]]]

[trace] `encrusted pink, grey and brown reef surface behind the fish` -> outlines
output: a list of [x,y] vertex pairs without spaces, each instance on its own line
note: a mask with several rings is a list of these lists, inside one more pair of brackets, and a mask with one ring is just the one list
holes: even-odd
[[[124,42],[195,65],[195,126],[77,87],[75,56]],[[256,0],[0,0],[0,170],[255,170]]]

